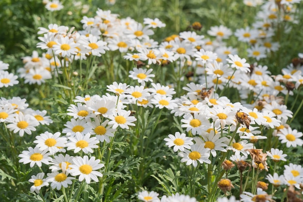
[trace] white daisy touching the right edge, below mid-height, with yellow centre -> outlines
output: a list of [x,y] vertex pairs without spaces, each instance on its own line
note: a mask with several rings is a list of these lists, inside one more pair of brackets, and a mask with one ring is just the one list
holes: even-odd
[[302,132],[299,132],[296,129],[283,128],[280,129],[280,133],[277,134],[281,143],[286,143],[286,146],[289,147],[297,147],[303,145],[303,140],[301,137],[303,136]]

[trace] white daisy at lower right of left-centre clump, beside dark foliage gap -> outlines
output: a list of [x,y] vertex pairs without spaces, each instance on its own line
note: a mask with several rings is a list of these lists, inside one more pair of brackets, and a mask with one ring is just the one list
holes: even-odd
[[135,122],[137,119],[134,116],[130,116],[131,111],[130,110],[124,110],[124,109],[117,109],[114,110],[114,114],[108,116],[108,119],[111,121],[108,122],[109,125],[112,125],[113,129],[116,129],[118,126],[122,129],[126,128],[129,129],[129,125],[135,126],[133,122]]

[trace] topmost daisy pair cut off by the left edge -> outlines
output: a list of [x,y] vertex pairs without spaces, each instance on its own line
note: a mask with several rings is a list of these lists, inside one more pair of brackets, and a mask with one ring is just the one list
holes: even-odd
[[17,80],[18,76],[8,71],[9,64],[0,61],[0,88],[7,88],[9,86],[14,86],[19,83]]

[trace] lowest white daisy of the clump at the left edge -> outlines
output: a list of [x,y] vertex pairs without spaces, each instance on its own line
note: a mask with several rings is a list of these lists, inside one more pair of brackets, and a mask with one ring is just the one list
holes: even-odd
[[15,120],[7,125],[7,128],[13,133],[19,132],[20,137],[23,137],[24,133],[31,135],[31,131],[36,131],[36,126],[38,126],[38,121],[30,114],[23,115],[19,112],[15,116]]

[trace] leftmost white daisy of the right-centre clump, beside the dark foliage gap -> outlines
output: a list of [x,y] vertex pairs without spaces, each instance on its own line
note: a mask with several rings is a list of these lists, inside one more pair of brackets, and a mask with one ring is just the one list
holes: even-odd
[[194,144],[192,141],[193,138],[186,137],[184,133],[180,134],[180,132],[175,132],[175,135],[169,134],[168,138],[165,138],[164,140],[167,141],[165,145],[168,147],[173,146],[174,152],[177,152],[178,150],[184,152],[184,148],[190,149],[190,145]]

